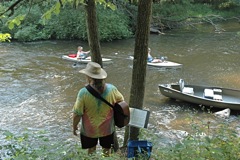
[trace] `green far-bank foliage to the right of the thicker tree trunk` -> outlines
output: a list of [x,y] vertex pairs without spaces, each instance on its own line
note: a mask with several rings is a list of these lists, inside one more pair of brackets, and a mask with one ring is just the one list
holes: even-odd
[[[229,3],[230,1],[228,0]],[[225,1],[218,2],[223,5]],[[240,8],[236,2],[234,4],[235,7],[232,6],[231,10],[222,10],[214,7],[213,4],[203,3],[203,1],[161,1],[161,3],[153,5],[152,24],[161,29],[194,27],[203,22],[213,25],[215,22],[238,17]]]

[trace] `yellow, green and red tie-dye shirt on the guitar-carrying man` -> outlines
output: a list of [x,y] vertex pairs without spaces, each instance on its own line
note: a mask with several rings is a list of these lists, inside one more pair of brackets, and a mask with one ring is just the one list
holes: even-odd
[[[112,84],[106,84],[101,96],[111,104],[124,100],[122,94]],[[115,131],[113,109],[94,97],[85,87],[78,92],[73,112],[81,116],[80,132],[87,137],[104,137]]]

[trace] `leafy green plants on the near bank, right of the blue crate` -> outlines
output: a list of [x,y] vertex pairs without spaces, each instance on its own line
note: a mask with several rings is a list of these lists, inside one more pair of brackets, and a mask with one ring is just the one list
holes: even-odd
[[[191,124],[192,131],[180,142],[166,147],[159,146],[161,137],[142,130],[140,139],[153,142],[153,159],[161,160],[238,160],[240,159],[240,138],[228,122],[212,125],[208,122]],[[203,134],[208,133],[208,134]],[[211,133],[211,134],[209,134]],[[149,138],[151,137],[151,138]]]

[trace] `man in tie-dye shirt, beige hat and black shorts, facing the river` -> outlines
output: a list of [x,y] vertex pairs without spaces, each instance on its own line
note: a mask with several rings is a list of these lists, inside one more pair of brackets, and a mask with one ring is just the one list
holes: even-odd
[[[105,83],[107,73],[98,63],[89,62],[86,68],[79,72],[85,74],[87,83],[111,104],[124,100],[123,95],[114,85]],[[78,92],[73,106],[74,135],[77,135],[80,120],[82,148],[88,149],[88,154],[92,154],[96,151],[99,141],[104,156],[109,156],[115,132],[113,109],[94,97],[85,87]]]

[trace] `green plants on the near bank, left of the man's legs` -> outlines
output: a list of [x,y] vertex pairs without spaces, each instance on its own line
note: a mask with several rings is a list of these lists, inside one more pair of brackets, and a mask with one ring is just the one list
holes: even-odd
[[[102,150],[91,156],[81,149],[80,142],[52,140],[47,137],[46,131],[32,132],[25,130],[16,136],[9,131],[0,130],[5,137],[4,144],[0,146],[0,157],[4,160],[96,160],[102,159]],[[80,140],[80,139],[79,139]],[[100,158],[99,158],[100,157]],[[104,159],[117,159],[118,154]]]

